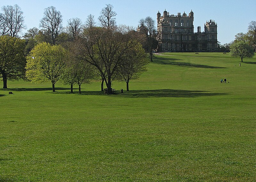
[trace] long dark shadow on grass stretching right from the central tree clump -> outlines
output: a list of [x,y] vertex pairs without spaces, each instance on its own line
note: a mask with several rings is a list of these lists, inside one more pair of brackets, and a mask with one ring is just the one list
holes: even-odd
[[192,97],[204,97],[204,96],[218,96],[227,95],[227,93],[210,93],[209,91],[188,91],[188,90],[134,90],[125,92],[121,95],[126,97],[176,97],[176,98],[192,98]]

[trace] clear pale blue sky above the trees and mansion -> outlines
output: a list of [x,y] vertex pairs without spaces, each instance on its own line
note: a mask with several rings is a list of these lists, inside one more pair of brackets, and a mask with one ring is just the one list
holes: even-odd
[[138,26],[141,18],[151,16],[156,19],[158,11],[163,14],[166,9],[170,14],[177,15],[178,12],[182,14],[184,11],[188,14],[192,9],[194,12],[194,32],[197,31],[197,26],[201,26],[202,30],[204,23],[212,19],[218,25],[218,41],[221,44],[234,40],[236,33],[246,33],[248,24],[251,21],[256,21],[255,0],[247,2],[244,0],[213,0],[213,3],[205,0],[0,0],[0,4],[1,7],[18,4],[24,13],[27,29],[39,28],[39,21],[43,17],[44,8],[49,6],[55,6],[61,12],[63,26],[67,24],[67,20],[70,18],[80,18],[85,21],[89,14],[94,15],[97,19],[101,9],[106,4],[114,6],[114,11],[117,13],[117,24],[134,27]]

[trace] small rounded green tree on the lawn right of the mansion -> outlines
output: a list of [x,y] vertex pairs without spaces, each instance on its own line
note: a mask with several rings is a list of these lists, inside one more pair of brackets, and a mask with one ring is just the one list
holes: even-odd
[[254,56],[253,48],[244,41],[236,41],[230,45],[230,55],[233,57],[240,57],[241,62],[243,58],[252,58]]

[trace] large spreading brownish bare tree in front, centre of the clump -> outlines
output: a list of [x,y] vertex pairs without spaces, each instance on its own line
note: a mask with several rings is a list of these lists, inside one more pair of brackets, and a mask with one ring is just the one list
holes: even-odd
[[85,29],[77,41],[79,50],[76,56],[95,66],[104,78],[108,93],[112,93],[111,83],[116,77],[117,68],[124,60],[125,53],[138,44],[129,34],[116,29],[92,27]]

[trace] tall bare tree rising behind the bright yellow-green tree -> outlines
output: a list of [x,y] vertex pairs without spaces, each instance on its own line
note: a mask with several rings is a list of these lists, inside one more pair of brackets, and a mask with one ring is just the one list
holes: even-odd
[[44,17],[40,20],[40,26],[50,32],[51,43],[55,45],[62,30],[62,15],[60,11],[57,11],[54,6],[45,8]]

